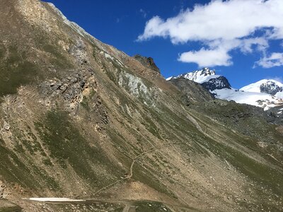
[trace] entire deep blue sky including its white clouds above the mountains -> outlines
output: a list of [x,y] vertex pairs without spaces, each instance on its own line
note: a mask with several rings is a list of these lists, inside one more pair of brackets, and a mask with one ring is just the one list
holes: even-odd
[[209,66],[233,88],[282,80],[282,0],[49,2],[98,40],[130,56],[153,57],[165,77]]

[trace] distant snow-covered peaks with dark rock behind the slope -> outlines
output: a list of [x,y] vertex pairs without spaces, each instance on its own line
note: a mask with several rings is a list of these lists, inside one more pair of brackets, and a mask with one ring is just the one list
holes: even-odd
[[204,68],[179,76],[171,76],[167,78],[167,81],[178,78],[187,78],[200,83],[215,98],[222,100],[234,100],[241,104],[262,107],[264,110],[283,105],[283,84],[272,79],[263,79],[238,90],[231,87],[225,76],[217,75],[214,70]]

